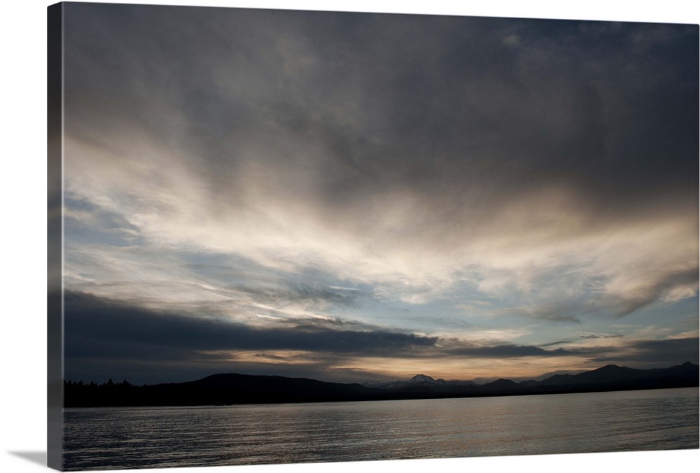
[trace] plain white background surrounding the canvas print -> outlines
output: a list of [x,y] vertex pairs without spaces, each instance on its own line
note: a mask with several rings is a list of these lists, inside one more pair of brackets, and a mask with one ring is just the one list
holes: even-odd
[[[3,306],[0,380],[0,471],[45,470],[46,451],[46,7],[50,1],[10,0],[0,16],[2,48],[0,102],[0,295]],[[112,3],[127,3],[113,1]],[[505,17],[573,18],[645,22],[699,22],[700,2],[638,1],[395,1],[395,0],[260,0],[142,1],[200,6],[245,6],[304,10],[351,10]],[[601,453],[566,456],[393,460],[313,465],[262,465],[153,469],[187,473],[299,472],[659,472],[700,464],[700,451]]]

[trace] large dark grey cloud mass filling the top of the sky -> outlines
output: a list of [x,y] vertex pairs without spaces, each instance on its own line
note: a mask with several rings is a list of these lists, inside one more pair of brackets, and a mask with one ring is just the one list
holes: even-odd
[[[552,178],[596,183],[613,205],[669,180],[696,185],[694,27],[112,9],[69,6],[69,108],[80,104],[73,89],[120,97],[103,120],[184,132],[183,144],[224,168],[239,156],[218,146],[256,126],[328,141],[342,160],[325,164],[335,170],[325,197],[336,199],[358,192],[346,182],[355,179],[363,191],[374,179],[430,193],[446,183],[430,172],[440,157],[472,184],[497,164],[491,178],[507,192]],[[149,109],[161,99],[174,101],[184,129]],[[386,143],[403,146],[387,155]]]

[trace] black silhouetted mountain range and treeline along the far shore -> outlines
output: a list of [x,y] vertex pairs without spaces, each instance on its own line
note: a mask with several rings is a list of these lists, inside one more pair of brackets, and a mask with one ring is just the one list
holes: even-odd
[[419,374],[389,383],[328,383],[315,379],[249,374],[214,374],[197,381],[135,386],[128,381],[64,381],[64,407],[195,406],[286,402],[340,402],[588,393],[596,391],[699,386],[699,367],[691,362],[661,369],[607,365],[579,374],[556,374],[541,381],[490,383],[444,381]]

